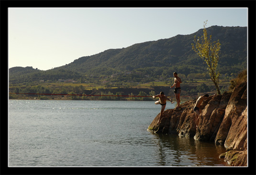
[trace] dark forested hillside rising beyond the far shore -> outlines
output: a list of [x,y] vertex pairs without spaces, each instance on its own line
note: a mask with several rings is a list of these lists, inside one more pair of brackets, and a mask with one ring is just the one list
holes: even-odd
[[[72,78],[107,79],[126,77],[125,81],[141,81],[143,78],[156,79],[172,77],[174,71],[188,76],[192,73],[206,73],[206,65],[191,49],[194,36],[202,35],[200,29],[189,35],[177,35],[168,39],[134,44],[122,49],[109,49],[96,55],[83,56],[65,66],[47,71],[32,67],[10,68],[10,83],[23,83],[39,80],[56,81]],[[247,64],[247,27],[211,26],[207,28],[212,40],[220,40],[221,74],[238,73]],[[113,76],[115,75],[115,76]],[[120,81],[122,79],[115,79]]]

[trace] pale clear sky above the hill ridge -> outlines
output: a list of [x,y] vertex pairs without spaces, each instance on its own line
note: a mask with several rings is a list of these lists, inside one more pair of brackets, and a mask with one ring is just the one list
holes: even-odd
[[8,8],[8,66],[49,70],[82,56],[207,26],[248,26],[247,8]]

